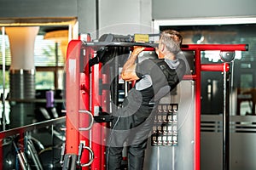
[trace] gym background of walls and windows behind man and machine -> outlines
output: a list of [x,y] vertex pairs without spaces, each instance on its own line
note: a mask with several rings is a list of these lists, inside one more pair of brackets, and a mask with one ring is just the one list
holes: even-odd
[[[174,29],[182,33],[184,44],[248,44],[249,50],[237,51],[230,63],[229,159],[232,170],[255,169],[255,6],[252,0],[0,0],[1,131],[65,116],[64,71],[70,40],[85,34],[97,40],[105,33],[154,34]],[[34,42],[32,35],[26,36],[32,32],[26,30],[30,27],[38,29]],[[22,29],[25,36],[17,36]],[[10,45],[16,41],[22,48],[30,40],[34,44],[32,52]],[[19,65],[22,62],[18,58],[26,60],[27,56],[14,56],[15,50],[32,53],[33,63]],[[202,63],[222,63],[216,58],[218,54],[214,51],[201,54]],[[222,72],[202,72],[201,169],[222,168],[223,84]],[[55,105],[47,104],[49,98]],[[59,167],[55,159],[61,156],[61,144],[65,142],[64,131],[60,130],[65,127],[64,122],[58,119],[53,125],[46,124],[47,128],[37,129],[39,136],[30,139],[37,150],[42,150],[39,159],[48,159],[43,167]],[[12,137],[4,141],[4,150],[13,150],[14,140]],[[4,156],[15,161],[9,153]]]

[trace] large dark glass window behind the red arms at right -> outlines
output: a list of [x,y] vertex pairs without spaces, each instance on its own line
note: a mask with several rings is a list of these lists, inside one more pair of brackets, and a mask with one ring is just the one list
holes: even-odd
[[[160,26],[160,31],[174,29],[183,35],[183,44],[247,44],[248,51],[236,51],[230,63],[230,115],[241,115],[241,107],[247,114],[255,115],[256,102],[256,24],[218,26]],[[219,51],[201,52],[202,64],[222,63]],[[212,89],[209,91],[209,89]],[[214,90],[213,90],[214,89]],[[223,74],[201,73],[202,114],[223,113]],[[234,103],[235,102],[235,103]],[[237,105],[237,107],[236,107]]]

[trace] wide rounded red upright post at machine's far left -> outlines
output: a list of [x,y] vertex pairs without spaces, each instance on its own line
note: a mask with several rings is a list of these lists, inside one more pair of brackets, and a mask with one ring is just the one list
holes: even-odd
[[72,40],[67,47],[66,71],[66,155],[77,155],[79,151],[79,83],[81,41]]

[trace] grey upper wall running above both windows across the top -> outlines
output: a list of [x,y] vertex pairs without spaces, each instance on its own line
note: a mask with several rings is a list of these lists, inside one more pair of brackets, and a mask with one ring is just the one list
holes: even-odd
[[95,32],[97,24],[102,33],[118,28],[118,33],[127,34],[147,32],[152,20],[256,16],[254,0],[98,0],[98,4],[96,23],[96,0],[0,0],[0,24],[10,17],[73,17],[79,20],[80,33]]

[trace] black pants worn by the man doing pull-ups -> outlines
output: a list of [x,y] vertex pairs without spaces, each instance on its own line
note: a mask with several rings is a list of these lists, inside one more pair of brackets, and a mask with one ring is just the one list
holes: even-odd
[[152,108],[148,110],[148,117],[145,117],[145,110],[143,110],[143,116],[141,116],[140,111],[137,111],[131,116],[115,117],[113,129],[108,139],[106,156],[108,170],[121,168],[122,150],[125,142],[128,149],[128,169],[143,169],[148,134],[154,122],[154,114],[151,113],[153,111]]

